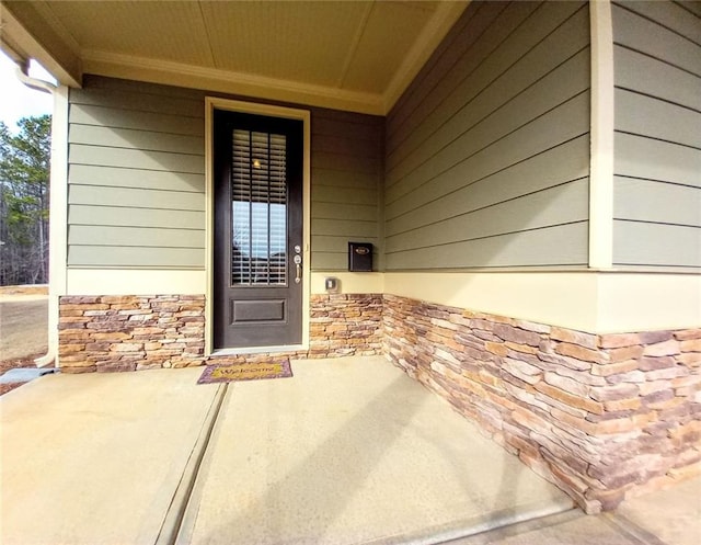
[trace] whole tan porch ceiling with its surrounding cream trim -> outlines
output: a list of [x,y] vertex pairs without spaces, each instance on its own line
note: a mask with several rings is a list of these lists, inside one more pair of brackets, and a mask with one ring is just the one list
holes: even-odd
[[468,1],[2,1],[2,48],[82,73],[389,111]]

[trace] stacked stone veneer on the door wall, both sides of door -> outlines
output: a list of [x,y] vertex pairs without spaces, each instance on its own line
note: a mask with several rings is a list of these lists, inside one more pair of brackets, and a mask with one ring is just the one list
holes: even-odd
[[[379,354],[382,296],[313,295],[310,348],[275,354],[331,357]],[[59,363],[66,373],[140,371],[202,365],[204,295],[64,296],[59,302]],[[269,354],[215,356],[257,362]]]

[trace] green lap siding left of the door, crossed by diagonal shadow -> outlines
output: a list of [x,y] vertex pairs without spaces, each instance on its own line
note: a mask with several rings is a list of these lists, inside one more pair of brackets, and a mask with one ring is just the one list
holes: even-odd
[[204,268],[204,93],[88,76],[69,101],[68,265]]

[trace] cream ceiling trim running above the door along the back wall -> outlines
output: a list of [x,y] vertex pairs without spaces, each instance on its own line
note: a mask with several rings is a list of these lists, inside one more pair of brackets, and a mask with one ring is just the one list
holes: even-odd
[[380,94],[110,52],[83,50],[85,73],[383,115]]

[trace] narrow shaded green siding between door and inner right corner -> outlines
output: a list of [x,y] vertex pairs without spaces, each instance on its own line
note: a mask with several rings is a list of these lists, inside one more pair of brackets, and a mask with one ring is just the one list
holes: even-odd
[[312,270],[347,270],[348,241],[372,242],[381,266],[382,140],[382,117],[312,110]]

